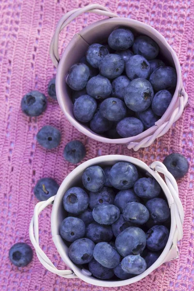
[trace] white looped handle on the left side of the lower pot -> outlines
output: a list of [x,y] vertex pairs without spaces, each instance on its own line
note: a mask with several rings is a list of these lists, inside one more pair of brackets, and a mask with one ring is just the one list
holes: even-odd
[[51,204],[55,199],[55,196],[50,197],[46,201],[41,201],[36,204],[34,208],[34,213],[29,227],[29,236],[32,245],[35,248],[36,255],[41,262],[41,264],[50,272],[57,274],[64,278],[77,278],[77,276],[71,270],[58,270],[47,255],[43,252],[39,245],[39,228],[38,228],[38,215],[42,210],[44,210],[49,204]]

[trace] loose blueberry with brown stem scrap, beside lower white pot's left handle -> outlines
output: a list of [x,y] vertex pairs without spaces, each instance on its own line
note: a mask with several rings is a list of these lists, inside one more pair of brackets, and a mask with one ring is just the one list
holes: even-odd
[[52,178],[42,178],[36,183],[33,193],[39,201],[45,201],[57,194],[59,185]]

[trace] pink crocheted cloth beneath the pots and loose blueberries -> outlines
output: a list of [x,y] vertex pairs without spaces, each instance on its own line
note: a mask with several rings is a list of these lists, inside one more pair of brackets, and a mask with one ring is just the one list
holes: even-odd
[[[95,2],[93,0],[90,3]],[[185,211],[184,237],[179,258],[167,262],[143,280],[112,290],[190,291],[194,290],[194,0],[98,0],[119,16],[152,25],[175,49],[182,67],[189,104],[167,134],[138,152],[126,146],[102,144],[74,129],[57,101],[48,97],[48,108],[39,117],[22,113],[20,101],[31,90],[47,94],[56,69],[49,57],[49,44],[58,20],[67,11],[89,4],[88,0],[1,0],[0,1],[0,291],[107,291],[80,279],[64,279],[49,273],[37,259],[17,268],[8,259],[16,242],[30,243],[29,224],[37,203],[33,188],[38,179],[51,177],[60,184],[74,165],[65,162],[65,144],[78,139],[86,146],[84,161],[108,155],[130,155],[147,164],[172,152],[184,154],[189,173],[178,180]],[[59,48],[76,32],[102,16],[85,14],[60,35]],[[73,52],[72,52],[73,53]],[[36,133],[50,124],[61,131],[60,146],[45,150],[36,143]],[[83,161],[83,162],[84,162]],[[40,215],[40,246],[55,266],[68,269],[58,255],[50,233],[51,206]]]

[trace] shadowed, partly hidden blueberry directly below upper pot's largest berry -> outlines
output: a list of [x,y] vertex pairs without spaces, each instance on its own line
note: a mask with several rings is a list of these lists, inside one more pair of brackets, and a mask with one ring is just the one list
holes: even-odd
[[141,120],[144,125],[144,129],[149,129],[155,125],[155,122],[159,120],[159,116],[153,113],[152,109],[149,107],[145,111],[137,113],[137,117]]

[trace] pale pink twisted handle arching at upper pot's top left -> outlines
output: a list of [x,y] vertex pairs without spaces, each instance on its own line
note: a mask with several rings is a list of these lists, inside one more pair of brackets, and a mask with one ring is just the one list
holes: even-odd
[[59,20],[56,30],[54,32],[54,35],[52,37],[50,48],[49,48],[49,54],[51,57],[51,60],[55,67],[58,66],[60,57],[59,57],[59,34],[60,32],[67,26],[73,19],[75,19],[77,16],[81,15],[85,12],[92,12],[95,14],[99,14],[102,16],[108,16],[108,17],[119,17],[118,15],[110,12],[106,7],[99,5],[99,4],[90,4],[83,8],[77,8],[73,9],[69,12],[67,12],[62,18]]

